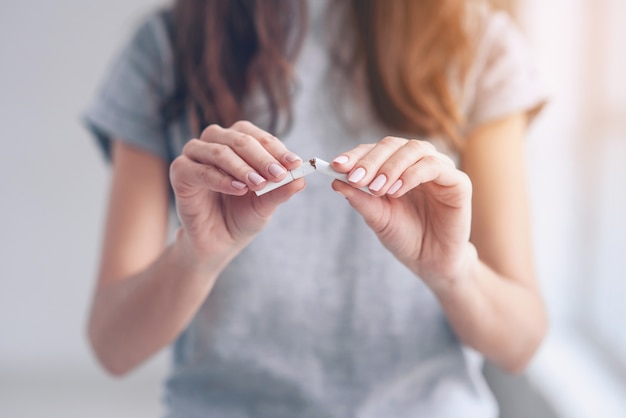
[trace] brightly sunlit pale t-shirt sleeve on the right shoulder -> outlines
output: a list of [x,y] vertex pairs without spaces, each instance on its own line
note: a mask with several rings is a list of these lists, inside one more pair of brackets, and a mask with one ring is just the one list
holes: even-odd
[[477,49],[467,130],[504,116],[526,112],[534,118],[548,94],[530,48],[510,18],[496,12],[487,19]]

